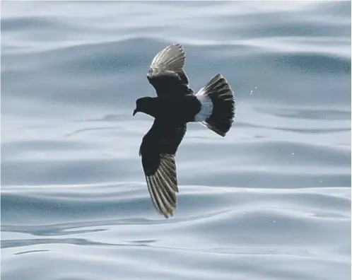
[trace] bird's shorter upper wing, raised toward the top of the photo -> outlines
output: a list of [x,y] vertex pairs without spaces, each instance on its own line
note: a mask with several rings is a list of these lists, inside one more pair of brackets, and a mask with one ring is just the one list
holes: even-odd
[[193,93],[184,73],[184,49],[180,44],[165,47],[156,54],[149,68],[147,78],[158,96],[168,97]]

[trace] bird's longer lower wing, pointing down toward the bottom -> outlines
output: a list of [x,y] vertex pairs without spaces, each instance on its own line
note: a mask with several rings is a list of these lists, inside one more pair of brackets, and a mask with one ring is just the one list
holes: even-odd
[[175,154],[186,130],[186,124],[170,126],[156,119],[139,151],[151,200],[166,218],[173,216],[177,207]]

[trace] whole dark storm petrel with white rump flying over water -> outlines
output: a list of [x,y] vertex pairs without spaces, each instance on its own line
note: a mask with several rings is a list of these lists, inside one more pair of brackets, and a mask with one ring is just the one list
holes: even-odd
[[177,207],[175,155],[188,122],[200,122],[225,136],[233,124],[235,100],[228,81],[221,74],[194,94],[184,73],[184,48],[165,47],[156,54],[147,74],[157,97],[136,100],[136,112],[154,117],[139,148],[143,172],[154,206],[165,218]]

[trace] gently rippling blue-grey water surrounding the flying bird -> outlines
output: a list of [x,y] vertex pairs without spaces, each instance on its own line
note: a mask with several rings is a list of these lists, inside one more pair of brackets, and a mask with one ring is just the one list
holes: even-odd
[[[180,42],[195,91],[159,216],[131,113]],[[351,2],[1,1],[1,279],[351,279]]]

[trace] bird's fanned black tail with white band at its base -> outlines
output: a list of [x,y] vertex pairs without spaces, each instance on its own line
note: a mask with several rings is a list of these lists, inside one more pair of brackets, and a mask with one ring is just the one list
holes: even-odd
[[235,99],[228,81],[217,74],[196,93],[196,98],[201,102],[201,110],[195,121],[225,136],[235,117]]

